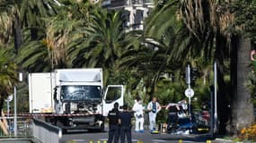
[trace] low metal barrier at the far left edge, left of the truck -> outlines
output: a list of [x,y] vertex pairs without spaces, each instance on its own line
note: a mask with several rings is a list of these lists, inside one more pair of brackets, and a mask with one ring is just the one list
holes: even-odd
[[[14,137],[14,117],[0,117],[0,137]],[[31,138],[31,117],[17,117],[17,137]]]

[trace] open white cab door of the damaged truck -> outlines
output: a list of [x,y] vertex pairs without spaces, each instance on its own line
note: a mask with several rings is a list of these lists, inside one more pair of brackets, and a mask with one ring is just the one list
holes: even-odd
[[124,86],[122,85],[109,85],[103,97],[103,115],[107,116],[109,111],[117,102],[119,106],[124,105]]

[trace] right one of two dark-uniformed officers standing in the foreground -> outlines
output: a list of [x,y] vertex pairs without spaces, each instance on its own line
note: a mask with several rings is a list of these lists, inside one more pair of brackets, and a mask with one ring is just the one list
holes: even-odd
[[128,112],[128,105],[123,105],[123,112],[119,113],[121,143],[125,143],[126,137],[128,143],[131,143],[131,118],[132,113]]

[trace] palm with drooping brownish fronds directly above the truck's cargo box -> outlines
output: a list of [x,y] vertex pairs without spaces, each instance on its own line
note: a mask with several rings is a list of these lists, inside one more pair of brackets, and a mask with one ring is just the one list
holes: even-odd
[[91,13],[98,8],[98,4],[88,1],[66,1],[57,15],[47,20],[46,42],[52,49],[54,68],[72,67],[80,49],[86,45],[84,29],[92,19]]

